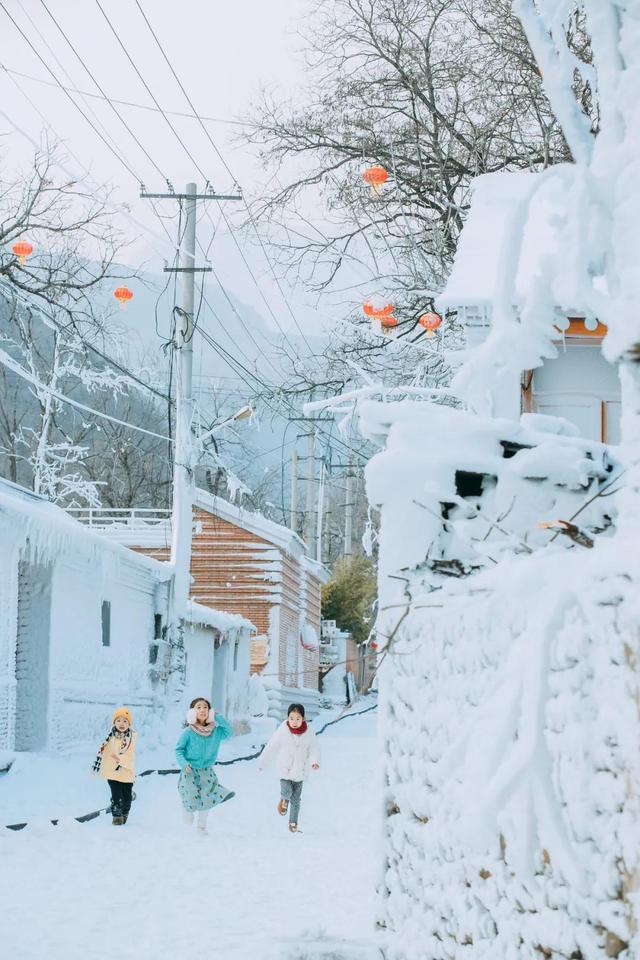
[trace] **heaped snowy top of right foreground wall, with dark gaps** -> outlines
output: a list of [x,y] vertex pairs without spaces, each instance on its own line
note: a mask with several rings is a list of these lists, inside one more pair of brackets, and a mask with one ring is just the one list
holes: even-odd
[[[538,523],[573,516],[615,470],[609,448],[561,418],[514,422],[411,400],[367,401],[358,413],[363,435],[384,446],[366,484],[382,510],[379,579],[394,602],[425,562],[475,568],[544,547],[551,534]],[[606,529],[610,509],[596,500],[581,522]]]

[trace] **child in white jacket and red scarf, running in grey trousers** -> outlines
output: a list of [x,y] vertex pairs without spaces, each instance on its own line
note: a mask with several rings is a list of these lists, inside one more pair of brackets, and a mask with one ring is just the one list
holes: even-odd
[[300,816],[302,784],[312,770],[320,769],[320,749],[313,730],[307,726],[304,707],[292,703],[284,720],[262,751],[258,770],[264,770],[272,755],[278,755],[280,774],[280,800],[277,810],[286,816],[289,810],[289,830],[296,833]]

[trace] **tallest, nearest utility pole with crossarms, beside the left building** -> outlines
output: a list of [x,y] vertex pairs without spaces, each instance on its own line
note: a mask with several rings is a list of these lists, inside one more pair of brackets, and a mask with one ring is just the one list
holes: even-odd
[[[180,242],[180,265],[165,266],[165,273],[181,273],[181,306],[176,310],[176,436],[173,458],[173,504],[171,511],[171,563],[173,580],[169,591],[167,638],[170,649],[183,644],[184,619],[191,585],[191,538],[193,534],[193,492],[196,458],[191,437],[193,422],[193,334],[195,274],[208,273],[211,267],[196,266],[196,205],[198,200],[240,200],[239,194],[215,194],[207,189],[198,193],[195,183],[188,183],[184,193],[176,193],[171,184],[168,193],[147,193],[142,187],[140,196],[149,200],[174,200],[184,205],[184,235]],[[180,240],[180,238],[179,238]],[[165,678],[175,664],[167,658]]]

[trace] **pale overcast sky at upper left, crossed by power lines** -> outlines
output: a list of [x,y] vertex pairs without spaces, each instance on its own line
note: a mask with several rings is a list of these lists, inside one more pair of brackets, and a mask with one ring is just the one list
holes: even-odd
[[[98,93],[47,14],[42,0],[2,2],[64,85]],[[153,106],[149,93],[118,46],[118,40],[103,17],[97,0],[44,2],[110,97]],[[136,0],[99,2],[160,104],[167,110],[188,111],[188,104],[155,45]],[[245,194],[254,196],[263,174],[251,153],[233,142],[237,127],[228,121],[247,111],[250,101],[262,86],[278,89],[288,97],[300,84],[304,84],[304,65],[299,55],[297,29],[308,9],[309,0],[139,2],[198,112],[219,119],[220,122],[208,122],[208,130]],[[30,49],[27,39],[20,35],[1,8],[0,64],[9,71],[19,71],[50,84],[55,83],[45,64]],[[25,94],[37,109],[29,103]],[[126,158],[147,188],[162,191],[165,184],[159,173],[110,107],[99,99],[83,99],[75,94],[74,97],[96,125],[97,120],[104,125],[105,139]],[[193,161],[186,155],[161,114],[120,105],[117,105],[117,109],[176,189],[182,189],[184,183],[191,179],[196,179],[201,185],[202,178],[194,169]],[[74,173],[82,172],[82,168],[89,169],[95,182],[113,183],[117,187],[114,199],[128,204],[131,214],[144,224],[143,235],[127,254],[129,260],[136,265],[150,261],[151,268],[162,268],[162,257],[170,259],[172,250],[166,238],[163,239],[162,228],[149,202],[139,199],[138,182],[101,142],[59,88],[34,82],[15,72],[0,70],[0,111],[6,114],[3,116],[0,113],[0,148],[8,167],[18,169],[33,152],[27,138],[17,133],[13,125],[33,140],[39,140],[44,127],[38,113],[40,111],[55,135],[65,144],[68,169]],[[188,118],[171,116],[170,119],[215,188],[223,192],[230,188],[229,175],[198,123]],[[170,201],[158,209],[166,215],[176,212],[175,205]],[[210,205],[210,212],[217,221],[219,214],[213,204]],[[130,221],[125,223],[131,234],[140,232]],[[167,226],[175,233],[175,222],[167,221]],[[199,238],[205,247],[211,239],[211,232],[210,221],[203,217],[199,225]],[[264,314],[260,294],[222,231],[212,246],[211,255],[231,289]],[[265,276],[266,268],[258,252],[248,247],[247,255],[283,323],[290,324],[286,311],[281,309],[281,298],[278,307],[280,295],[273,282]],[[314,313],[302,309],[300,294],[295,293],[293,297],[297,307],[301,308],[303,323],[311,329],[316,319]]]

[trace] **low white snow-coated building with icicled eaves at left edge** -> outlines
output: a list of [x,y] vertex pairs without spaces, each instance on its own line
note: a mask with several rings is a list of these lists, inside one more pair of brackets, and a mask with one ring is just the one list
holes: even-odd
[[170,570],[4,483],[0,537],[0,747],[95,741],[119,703],[144,725]]

